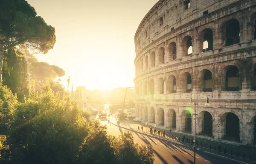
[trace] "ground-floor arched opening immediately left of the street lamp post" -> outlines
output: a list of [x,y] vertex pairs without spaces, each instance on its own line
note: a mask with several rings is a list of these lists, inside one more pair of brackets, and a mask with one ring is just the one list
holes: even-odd
[[189,110],[183,110],[180,119],[182,130],[192,132],[192,117]]

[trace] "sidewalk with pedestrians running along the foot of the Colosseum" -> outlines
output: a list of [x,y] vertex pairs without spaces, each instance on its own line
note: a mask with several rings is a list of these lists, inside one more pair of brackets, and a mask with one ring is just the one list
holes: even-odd
[[[110,121],[112,124],[117,124],[117,119],[114,117],[114,115],[113,115],[113,117],[110,117]],[[120,121],[120,127],[122,127],[122,128],[137,132],[138,126],[139,126],[140,132],[137,132],[137,133],[151,136],[156,139],[166,140],[166,141],[172,142],[172,144],[182,144],[183,146],[188,147],[190,150],[193,147],[192,144],[186,144],[181,141],[183,134],[185,134],[186,138],[189,137],[189,140],[191,141],[191,139],[193,139],[192,134],[172,131],[171,136],[169,136],[169,129],[163,128],[163,127],[161,127],[161,128],[156,127],[156,130],[160,130],[160,132],[165,130],[165,137],[162,137],[161,133],[160,133],[160,136],[154,135],[154,132],[153,132],[153,134],[150,134],[149,128],[152,126],[150,126],[150,125],[145,126],[142,122],[134,122],[133,120],[119,120],[119,121]],[[141,126],[143,126],[143,132],[141,130]],[[154,130],[154,127],[152,127],[152,129]],[[166,134],[168,134],[168,137],[166,137]],[[176,137],[178,139],[177,141],[176,141]],[[255,150],[252,151],[252,150],[244,149],[244,146],[241,147],[241,146],[235,146],[235,145],[229,144],[229,143],[218,143],[213,140],[211,141],[209,139],[201,139],[199,137],[197,137],[197,141],[198,141],[197,148],[199,148],[197,153],[207,153],[208,155],[209,154],[215,155],[215,156],[217,156],[217,158],[229,158],[229,159],[232,159],[235,161],[240,161],[242,163],[256,164],[256,156],[255,156],[256,151]],[[218,152],[219,144],[222,147],[221,153]],[[226,154],[223,152],[224,146],[226,146],[226,148],[227,148]]]

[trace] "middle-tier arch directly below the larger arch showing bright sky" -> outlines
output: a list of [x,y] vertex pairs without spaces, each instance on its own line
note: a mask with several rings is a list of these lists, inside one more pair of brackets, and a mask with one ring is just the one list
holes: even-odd
[[213,81],[212,81],[212,72],[208,69],[203,69],[199,73],[199,88],[204,92],[212,92],[213,90]]

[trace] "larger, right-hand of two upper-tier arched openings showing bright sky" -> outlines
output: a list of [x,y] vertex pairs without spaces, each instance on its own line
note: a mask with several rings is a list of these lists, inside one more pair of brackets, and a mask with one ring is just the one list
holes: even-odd
[[213,49],[213,36],[210,28],[205,28],[203,31],[201,31],[198,39],[200,51],[204,52]]

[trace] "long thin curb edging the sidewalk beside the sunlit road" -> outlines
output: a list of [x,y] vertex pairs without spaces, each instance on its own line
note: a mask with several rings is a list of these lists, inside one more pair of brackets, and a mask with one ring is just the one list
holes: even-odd
[[[111,124],[113,124],[113,125],[115,125],[115,126],[117,126],[117,127],[120,127],[120,128],[126,129],[126,130],[130,130],[130,131],[133,131],[133,132],[135,132],[135,133],[140,133],[140,134],[143,134],[143,135],[145,135],[145,136],[152,137],[152,138],[154,138],[154,139],[159,139],[159,140],[168,141],[168,142],[170,142],[170,143],[172,143],[172,144],[178,144],[178,143],[172,142],[172,141],[170,141],[170,140],[167,140],[167,139],[165,139],[165,138],[161,139],[161,138],[158,138],[158,137],[155,137],[155,136],[151,136],[151,135],[146,134],[146,133],[141,133],[141,132],[138,132],[138,131],[136,131],[136,130],[129,129],[129,128],[127,128],[127,127],[118,126],[117,124],[114,124],[113,122],[111,122],[110,119],[108,119],[108,120],[109,120],[109,122],[110,122]],[[173,140],[175,140],[175,139],[173,139]],[[175,140],[175,141],[176,141],[176,140]],[[177,142],[181,143],[180,141],[177,141]],[[182,144],[182,146],[188,148],[189,150],[191,150],[191,147],[189,147],[189,146],[186,145],[186,144]],[[200,148],[201,148],[201,147],[200,147]],[[200,150],[200,149],[199,149],[199,150],[197,150],[197,151],[199,151],[200,153],[207,154],[207,155],[210,154],[210,155],[218,156],[218,157],[224,158],[224,159],[226,159],[226,160],[236,161],[236,162],[240,162],[240,163],[242,163],[242,164],[248,164],[248,163],[245,163],[245,162],[243,162],[243,161],[238,161],[238,160],[236,160],[236,159],[228,158],[228,157],[225,157],[225,156],[221,156],[221,155],[218,155],[218,154],[215,154],[215,153],[211,153],[211,152],[208,152],[208,151],[205,151],[205,150]],[[254,161],[250,161],[250,162],[253,162],[253,163],[254,163]]]

